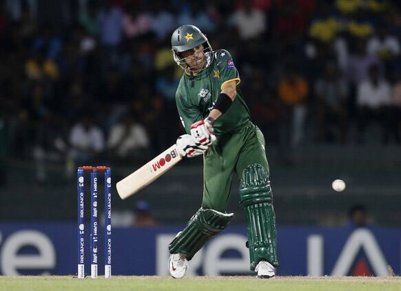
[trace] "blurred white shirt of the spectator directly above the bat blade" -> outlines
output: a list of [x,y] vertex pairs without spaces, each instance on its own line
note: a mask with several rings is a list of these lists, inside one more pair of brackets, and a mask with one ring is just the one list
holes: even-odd
[[139,124],[133,124],[128,132],[124,124],[116,124],[110,130],[110,136],[107,141],[108,148],[116,147],[119,157],[125,157],[130,150],[147,148],[149,137],[145,128]]

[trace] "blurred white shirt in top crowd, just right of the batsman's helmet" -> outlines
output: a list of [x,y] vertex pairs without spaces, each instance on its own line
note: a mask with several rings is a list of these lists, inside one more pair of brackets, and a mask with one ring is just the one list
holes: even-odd
[[252,8],[247,14],[244,9],[236,10],[232,15],[232,21],[241,39],[252,39],[258,37],[266,30],[265,14],[260,10]]

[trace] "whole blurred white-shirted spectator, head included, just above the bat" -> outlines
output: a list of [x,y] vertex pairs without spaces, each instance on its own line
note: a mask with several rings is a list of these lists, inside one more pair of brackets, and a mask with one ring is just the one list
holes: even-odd
[[145,128],[136,123],[133,116],[132,112],[125,114],[123,121],[112,127],[107,140],[107,148],[112,157],[121,161],[130,162],[132,158],[149,155],[150,139]]

